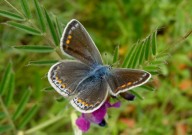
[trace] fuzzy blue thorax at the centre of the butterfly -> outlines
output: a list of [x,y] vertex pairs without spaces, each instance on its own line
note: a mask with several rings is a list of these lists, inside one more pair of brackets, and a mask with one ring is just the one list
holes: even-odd
[[102,78],[109,74],[110,67],[109,66],[103,66],[98,65],[94,68],[93,71],[90,72],[90,76],[96,77],[96,78]]

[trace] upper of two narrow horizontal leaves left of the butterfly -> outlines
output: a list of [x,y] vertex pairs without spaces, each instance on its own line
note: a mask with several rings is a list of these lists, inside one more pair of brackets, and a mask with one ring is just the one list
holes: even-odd
[[49,53],[53,52],[54,49],[49,46],[41,46],[41,45],[25,45],[25,46],[14,46],[14,48],[26,51],[26,52],[34,52],[34,53]]

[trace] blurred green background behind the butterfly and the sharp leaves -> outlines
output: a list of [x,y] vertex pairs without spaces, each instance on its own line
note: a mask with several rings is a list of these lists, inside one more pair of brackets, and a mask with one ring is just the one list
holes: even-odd
[[[9,0],[19,12],[24,12],[21,1]],[[24,24],[36,24],[34,28],[40,27],[34,1],[28,0],[27,3],[31,17]],[[122,62],[131,45],[157,28],[158,52],[164,51],[169,56],[161,65],[160,74],[153,76],[151,83],[155,91],[137,91],[144,100],[122,100],[120,109],[109,110],[106,127],[91,125],[91,129],[85,134],[192,134],[192,1],[40,0],[39,3],[52,19],[58,19],[61,29],[71,19],[78,19],[90,33],[104,59],[108,57],[107,61],[112,59],[114,49],[119,45],[119,59]],[[13,7],[6,0],[0,1],[0,10],[15,13]],[[18,134],[73,134],[73,108],[68,101],[61,102],[62,99],[56,92],[44,89],[50,87],[46,74],[51,65],[29,64],[35,60],[60,60],[59,55],[56,52],[32,53],[13,48],[20,45],[49,45],[52,42],[49,40],[51,34],[47,31],[43,36],[27,34],[7,26],[6,22],[11,19],[4,17],[2,12],[0,15],[1,88],[6,69],[12,67],[10,72],[14,76],[12,78],[15,78],[15,81],[9,81],[11,84],[0,95],[0,132],[5,135],[16,134],[10,127],[11,124]],[[14,86],[12,101],[9,105],[4,105],[11,86]],[[24,105],[21,105],[21,101],[24,101]],[[12,120],[19,105],[20,112]],[[34,114],[27,115],[31,111]],[[28,118],[30,119],[26,122]]]

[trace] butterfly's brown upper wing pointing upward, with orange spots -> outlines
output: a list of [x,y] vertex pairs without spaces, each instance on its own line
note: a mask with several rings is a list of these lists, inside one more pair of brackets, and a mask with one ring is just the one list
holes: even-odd
[[89,66],[102,64],[101,55],[97,47],[83,25],[75,19],[67,24],[60,44],[64,53]]

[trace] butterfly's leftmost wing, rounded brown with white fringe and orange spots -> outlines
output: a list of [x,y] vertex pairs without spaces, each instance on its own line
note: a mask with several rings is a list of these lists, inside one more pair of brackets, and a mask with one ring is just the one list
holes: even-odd
[[83,80],[90,68],[77,61],[63,61],[53,65],[48,72],[52,87],[62,96],[72,96],[78,83]]

